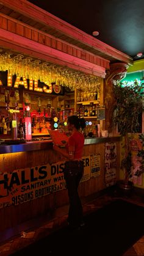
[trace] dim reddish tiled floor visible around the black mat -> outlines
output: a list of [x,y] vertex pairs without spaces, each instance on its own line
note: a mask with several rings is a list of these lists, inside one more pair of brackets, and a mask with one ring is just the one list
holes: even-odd
[[[133,191],[131,194],[126,194],[125,192],[121,194],[120,191],[113,190],[105,192],[103,196],[95,196],[95,198],[91,197],[91,199],[83,200],[84,214],[91,213],[117,198],[123,198],[128,202],[136,203],[144,207],[144,197],[141,193]],[[34,241],[40,238],[44,238],[54,230],[60,229],[60,227],[63,227],[67,223],[67,213],[68,205],[56,210],[55,218],[50,221],[43,220],[39,227],[35,227],[31,230],[23,230],[20,235],[12,236],[9,240],[1,243],[0,256],[10,255],[18,251],[18,249],[34,243]],[[144,256],[144,230],[142,238],[123,254],[123,256],[134,255]]]

